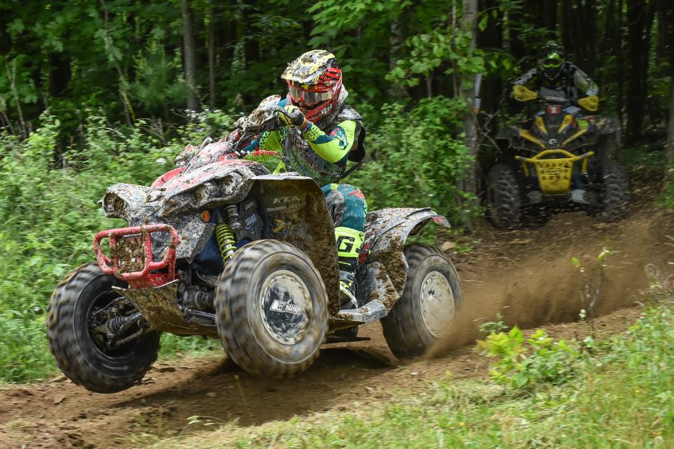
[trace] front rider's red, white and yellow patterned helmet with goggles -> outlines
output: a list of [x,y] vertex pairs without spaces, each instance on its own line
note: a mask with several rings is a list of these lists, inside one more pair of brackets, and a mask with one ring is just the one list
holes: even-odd
[[316,122],[337,104],[342,70],[327,50],[311,50],[292,61],[281,75],[288,82],[290,101],[307,120]]

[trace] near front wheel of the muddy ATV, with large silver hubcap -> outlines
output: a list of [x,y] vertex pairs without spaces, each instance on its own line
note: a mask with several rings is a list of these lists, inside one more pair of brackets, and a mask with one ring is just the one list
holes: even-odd
[[278,240],[242,247],[215,290],[215,323],[234,363],[288,377],[314,363],[328,320],[325,285],[309,256]]

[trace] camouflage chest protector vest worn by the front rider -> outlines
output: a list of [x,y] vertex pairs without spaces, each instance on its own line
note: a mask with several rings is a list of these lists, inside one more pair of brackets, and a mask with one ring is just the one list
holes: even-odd
[[[346,91],[343,89],[338,107],[332,113],[318,120],[314,126],[318,126],[320,131],[326,134],[331,131],[341,122],[345,120],[354,120],[356,122],[356,131],[354,133],[354,143],[351,151],[347,157],[339,162],[332,164],[320,157],[314,149],[309,146],[309,142],[302,135],[297,127],[286,128],[287,134],[283,140],[283,153],[286,159],[287,169],[290,171],[297,171],[300,175],[314,178],[320,186],[325,184],[337,183],[346,178],[355,169],[363,163],[365,158],[365,147],[363,141],[365,140],[365,128],[363,127],[362,118],[351,106],[344,104],[346,99]],[[347,160],[356,162],[351,169],[347,170]]]

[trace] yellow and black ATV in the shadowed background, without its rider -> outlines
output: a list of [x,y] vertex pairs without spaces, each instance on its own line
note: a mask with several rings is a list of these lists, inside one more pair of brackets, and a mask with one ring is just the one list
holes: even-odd
[[[494,226],[541,225],[553,211],[568,209],[583,209],[604,221],[622,218],[630,191],[627,175],[614,159],[617,121],[581,116],[554,90],[541,88],[539,95],[515,85],[513,97],[520,102],[541,98],[545,110],[497,135],[501,163],[487,179],[487,217]],[[578,104],[597,111],[595,96]]]

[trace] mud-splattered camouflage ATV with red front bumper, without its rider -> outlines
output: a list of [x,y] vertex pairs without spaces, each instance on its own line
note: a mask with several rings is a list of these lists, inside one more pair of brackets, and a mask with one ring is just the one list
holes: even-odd
[[243,370],[285,377],[323,343],[358,340],[365,323],[381,320],[401,359],[452,325],[463,301],[452,262],[405,243],[427,223],[449,226],[430,209],[367,215],[357,304],[342,303],[318,184],[237,156],[241,142],[279,126],[276,101],[238,122],[240,139],[206,140],[151,187],[107,189],[105,215],[128,227],[97,233],[97,263],[71,271],[49,303],[50,350],[70,380],[94,392],[130,388],[157,358],[161,332],[220,338]]

